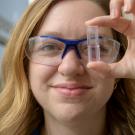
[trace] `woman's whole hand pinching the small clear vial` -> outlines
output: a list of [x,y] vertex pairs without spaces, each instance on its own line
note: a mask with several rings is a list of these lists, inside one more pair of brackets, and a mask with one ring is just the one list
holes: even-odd
[[[135,17],[128,20],[120,16],[122,6],[135,16],[135,0],[111,0],[110,16],[100,16],[88,20],[86,25],[111,27],[127,36],[128,47],[124,57],[117,63],[91,62],[87,67],[99,72],[103,77],[135,78]],[[112,13],[113,12],[113,13]]]

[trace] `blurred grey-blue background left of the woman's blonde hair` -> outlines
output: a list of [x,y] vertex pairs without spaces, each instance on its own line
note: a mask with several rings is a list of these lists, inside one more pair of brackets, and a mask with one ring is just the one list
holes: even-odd
[[32,0],[0,0],[0,66],[11,30]]

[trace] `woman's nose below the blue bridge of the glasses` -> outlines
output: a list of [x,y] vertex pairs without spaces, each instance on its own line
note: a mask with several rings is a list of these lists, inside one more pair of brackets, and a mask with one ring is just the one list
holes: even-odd
[[58,67],[58,72],[64,76],[78,76],[85,72],[84,65],[78,59],[75,51],[70,50],[62,60]]

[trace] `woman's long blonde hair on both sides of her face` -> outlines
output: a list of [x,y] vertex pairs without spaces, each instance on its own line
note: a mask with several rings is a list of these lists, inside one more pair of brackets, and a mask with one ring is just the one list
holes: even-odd
[[[28,60],[25,47],[42,18],[58,0],[35,0],[17,24],[5,50],[3,60],[3,90],[0,94],[0,134],[30,135],[43,122],[42,109],[33,97],[27,77]],[[109,12],[108,0],[93,0]],[[106,3],[106,4],[105,4]],[[123,45],[124,36],[116,33]],[[126,46],[126,45],[125,45]],[[125,49],[121,47],[121,55]],[[121,79],[107,105],[108,132],[112,135],[135,134],[135,83]]]

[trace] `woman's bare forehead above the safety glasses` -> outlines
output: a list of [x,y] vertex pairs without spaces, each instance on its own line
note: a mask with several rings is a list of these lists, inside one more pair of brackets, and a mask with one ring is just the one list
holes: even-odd
[[[91,0],[62,0],[50,9],[38,35],[53,33],[63,38],[80,38],[86,35],[85,21],[102,15],[104,10]],[[102,31],[111,33],[110,29]]]

